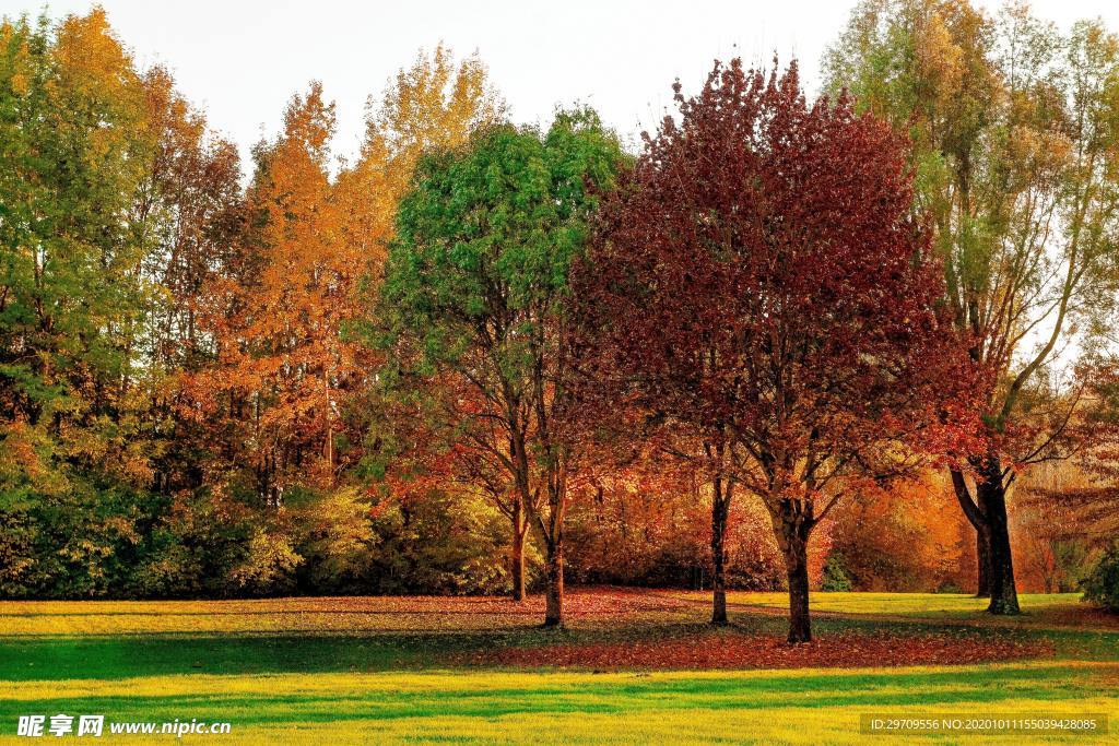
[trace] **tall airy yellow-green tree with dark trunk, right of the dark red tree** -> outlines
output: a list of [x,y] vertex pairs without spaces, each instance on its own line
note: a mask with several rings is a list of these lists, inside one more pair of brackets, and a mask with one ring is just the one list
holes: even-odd
[[932,215],[955,323],[990,372],[990,446],[951,476],[977,531],[980,595],[1015,614],[1007,493],[1022,468],[1072,453],[1072,412],[1038,418],[1029,402],[1057,380],[1062,348],[1090,351],[1115,308],[1119,44],[1099,21],[1062,37],[1024,3],[993,20],[966,0],[869,0],[825,72],[912,134],[915,206]]

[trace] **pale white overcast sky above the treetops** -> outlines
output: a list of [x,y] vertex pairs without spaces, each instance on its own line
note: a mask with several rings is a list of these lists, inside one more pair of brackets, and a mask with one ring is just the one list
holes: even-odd
[[[88,0],[54,0],[53,17]],[[338,105],[335,152],[357,150],[369,94],[440,40],[478,50],[519,122],[547,122],[556,104],[593,105],[623,136],[653,126],[679,77],[696,89],[716,57],[801,62],[818,81],[825,47],[854,0],[548,2],[317,0],[103,0],[110,22],[142,66],[170,67],[179,88],[243,153],[280,125],[285,103],[311,79]],[[1113,0],[1038,0],[1037,15],[1066,27],[1102,16],[1119,30]],[[31,0],[0,0],[0,15],[37,13]]]

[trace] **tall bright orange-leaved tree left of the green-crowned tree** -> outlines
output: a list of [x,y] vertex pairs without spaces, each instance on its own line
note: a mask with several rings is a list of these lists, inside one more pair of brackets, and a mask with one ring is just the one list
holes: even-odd
[[201,302],[216,360],[190,377],[189,408],[226,444],[216,480],[251,464],[239,476],[275,507],[292,485],[335,488],[366,455],[377,356],[358,327],[396,202],[422,152],[461,142],[501,106],[477,57],[457,65],[440,46],[399,73],[360,157],[335,177],[333,104],[318,83],[291,100],[279,138],[254,151],[241,239]]

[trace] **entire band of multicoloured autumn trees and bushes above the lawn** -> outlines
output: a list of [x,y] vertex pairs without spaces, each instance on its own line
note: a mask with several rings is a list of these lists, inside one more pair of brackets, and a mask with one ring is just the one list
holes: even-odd
[[1119,605],[1119,38],[864,0],[822,78],[627,149],[438,46],[245,164],[103,11],[6,19],[0,596]]

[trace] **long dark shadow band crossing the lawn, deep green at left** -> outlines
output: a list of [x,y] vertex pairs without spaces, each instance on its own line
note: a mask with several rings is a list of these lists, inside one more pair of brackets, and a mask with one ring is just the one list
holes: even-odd
[[[477,631],[375,631],[367,633],[161,633],[74,636],[9,636],[0,639],[0,680],[50,681],[173,674],[267,674],[415,671],[459,668],[472,653],[501,648],[539,648],[640,641],[656,644],[681,638],[720,644],[720,635],[783,638],[784,620],[771,615],[734,615],[728,627],[703,622],[649,622],[617,626],[536,627]],[[1119,634],[932,626],[929,624],[819,620],[816,632],[829,635],[929,634],[960,638],[1007,636],[1016,641],[1053,641],[1066,658],[1119,660]]]

